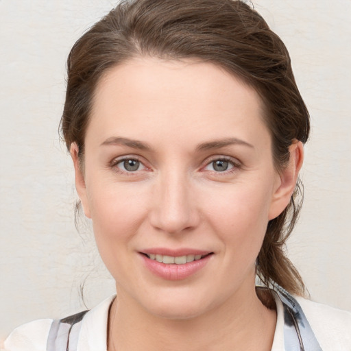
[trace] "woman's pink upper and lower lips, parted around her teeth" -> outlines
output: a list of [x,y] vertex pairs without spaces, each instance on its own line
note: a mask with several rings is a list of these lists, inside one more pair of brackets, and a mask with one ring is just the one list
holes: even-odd
[[[145,267],[152,272],[152,274],[165,279],[165,280],[184,280],[191,276],[194,276],[200,270],[202,270],[212,258],[212,252],[206,252],[201,250],[145,250],[146,252],[140,252],[140,256],[143,260]],[[165,264],[152,260],[146,256],[147,254],[162,254],[166,256],[185,256],[187,254],[201,254],[206,255],[197,261],[184,263],[183,265],[176,264]]]

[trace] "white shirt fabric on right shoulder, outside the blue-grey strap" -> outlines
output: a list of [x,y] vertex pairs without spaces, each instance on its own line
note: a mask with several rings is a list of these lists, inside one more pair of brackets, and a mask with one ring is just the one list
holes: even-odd
[[351,312],[296,298],[323,350],[351,350]]

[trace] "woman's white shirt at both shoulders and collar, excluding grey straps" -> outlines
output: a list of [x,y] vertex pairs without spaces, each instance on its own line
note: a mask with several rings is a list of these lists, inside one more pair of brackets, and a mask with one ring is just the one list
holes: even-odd
[[[113,299],[114,295],[84,315],[77,351],[107,350],[108,310]],[[295,297],[295,299],[302,307],[323,351],[351,351],[350,312],[304,298]],[[278,296],[276,308],[277,324],[271,351],[285,351],[284,312]],[[52,322],[53,319],[38,319],[19,326],[5,340],[5,351],[46,351]]]

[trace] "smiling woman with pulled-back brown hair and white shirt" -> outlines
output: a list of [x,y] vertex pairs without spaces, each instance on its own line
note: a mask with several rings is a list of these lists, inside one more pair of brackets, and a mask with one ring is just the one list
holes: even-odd
[[350,350],[350,313],[305,300],[283,252],[309,118],[257,12],[121,3],[70,53],[61,125],[117,298],[5,348]]

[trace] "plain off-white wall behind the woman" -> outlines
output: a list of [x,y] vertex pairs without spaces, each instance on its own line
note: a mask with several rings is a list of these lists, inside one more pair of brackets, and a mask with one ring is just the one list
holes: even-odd
[[[69,49],[108,0],[0,0],[0,339],[92,307],[114,290],[89,223],[74,227],[73,168],[58,138]],[[313,300],[351,310],[351,1],[255,0],[287,45],[313,129],[288,245]]]

